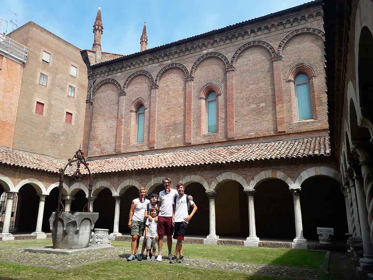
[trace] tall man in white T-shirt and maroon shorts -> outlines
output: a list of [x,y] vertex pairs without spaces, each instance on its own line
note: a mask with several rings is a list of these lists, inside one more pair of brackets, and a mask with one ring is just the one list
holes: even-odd
[[[172,204],[174,197],[178,194],[175,189],[171,189],[171,179],[164,178],[162,180],[164,190],[159,193],[158,197],[158,256],[157,261],[162,261],[162,246],[163,246],[163,237],[167,236],[167,247],[168,247],[168,256],[169,259],[172,258]],[[189,196],[189,199],[192,200],[193,197]]]

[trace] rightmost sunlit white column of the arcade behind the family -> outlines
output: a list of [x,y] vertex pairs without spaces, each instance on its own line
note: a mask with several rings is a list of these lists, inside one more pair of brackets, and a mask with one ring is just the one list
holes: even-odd
[[295,238],[291,247],[293,249],[307,249],[308,242],[303,236],[302,211],[301,211],[301,189],[291,190],[294,198]]

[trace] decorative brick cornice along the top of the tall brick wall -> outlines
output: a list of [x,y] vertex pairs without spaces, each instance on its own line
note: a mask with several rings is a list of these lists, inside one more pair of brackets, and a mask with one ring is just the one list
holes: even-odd
[[[266,21],[261,24],[252,26],[249,25],[246,27],[237,28],[233,31],[230,30],[227,32],[222,32],[220,34],[196,40],[191,43],[182,44],[180,46],[170,46],[167,50],[160,50],[145,57],[139,53],[138,56],[128,58],[128,60],[118,61],[115,59],[113,60],[112,64],[107,65],[108,62],[105,62],[105,64],[102,65],[102,68],[97,68],[97,70],[94,71],[94,77],[97,78],[102,75],[113,74],[164,60],[174,59],[189,53],[210,49],[214,46],[258,36],[260,34],[264,34],[264,32],[272,32],[280,28],[287,28],[292,26],[294,22],[308,22],[309,20],[316,19],[317,17],[322,17],[322,15],[322,7],[318,6],[302,12],[293,13],[292,15],[272,19],[271,21]],[[97,67],[100,66],[97,65]]]

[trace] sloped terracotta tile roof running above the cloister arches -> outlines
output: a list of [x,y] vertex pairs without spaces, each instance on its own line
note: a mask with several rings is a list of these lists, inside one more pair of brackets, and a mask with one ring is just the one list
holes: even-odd
[[[329,137],[243,144],[198,150],[122,156],[89,161],[92,173],[330,155]],[[58,172],[67,161],[0,148],[0,164]]]

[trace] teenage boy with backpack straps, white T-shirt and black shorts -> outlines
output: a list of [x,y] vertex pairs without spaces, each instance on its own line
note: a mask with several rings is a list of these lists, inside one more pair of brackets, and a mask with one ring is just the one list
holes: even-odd
[[[172,224],[175,227],[175,231],[173,232],[173,239],[177,239],[175,253],[173,254],[170,264],[174,264],[176,262],[176,258],[179,253],[179,260],[178,262],[184,261],[184,256],[182,252],[182,241],[184,240],[185,231],[188,228],[188,223],[193,217],[195,211],[197,211],[197,205],[190,200],[187,195],[184,193],[184,185],[177,184],[176,190],[178,191],[178,195],[173,200],[173,211],[172,211]],[[191,214],[188,214],[189,206],[193,207]]]

